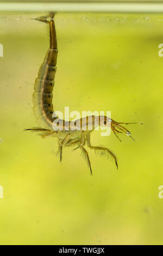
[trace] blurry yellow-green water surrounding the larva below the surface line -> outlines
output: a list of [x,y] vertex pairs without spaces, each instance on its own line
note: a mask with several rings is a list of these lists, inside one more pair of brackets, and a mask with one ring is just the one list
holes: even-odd
[[111,111],[134,137],[91,134],[118,159],[87,149],[55,155],[56,138],[37,126],[32,94],[49,45],[42,14],[1,14],[0,243],[116,245],[163,242],[163,15],[61,14],[54,110]]

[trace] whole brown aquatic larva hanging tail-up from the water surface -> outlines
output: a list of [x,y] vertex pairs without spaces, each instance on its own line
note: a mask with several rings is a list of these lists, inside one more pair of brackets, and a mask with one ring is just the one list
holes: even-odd
[[62,147],[76,145],[76,149],[80,148],[83,151],[83,154],[86,156],[86,160],[89,164],[91,174],[91,162],[89,159],[89,155],[84,148],[85,143],[87,143],[87,147],[91,149],[103,150],[106,153],[110,154],[115,160],[116,167],[118,167],[116,156],[109,149],[91,145],[90,133],[91,131],[95,130],[97,126],[107,126],[111,128],[117,138],[118,133],[126,133],[130,136],[130,132],[121,124],[135,123],[118,123],[110,119],[109,117],[101,115],[92,115],[89,117],[78,119],[73,122],[61,120],[56,117],[52,104],[54,78],[57,70],[56,65],[58,54],[54,14],[50,15],[50,21],[47,20],[47,17],[40,17],[36,20],[48,23],[50,44],[45,59],[40,66],[39,73],[35,80],[33,93],[34,114],[40,127],[36,129],[26,130],[41,132],[42,138],[57,137],[59,144],[58,152],[60,154],[60,161],[62,159]]

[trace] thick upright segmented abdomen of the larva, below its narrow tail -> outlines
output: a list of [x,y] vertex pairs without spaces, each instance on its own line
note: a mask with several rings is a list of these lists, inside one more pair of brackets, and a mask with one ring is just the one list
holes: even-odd
[[34,114],[39,125],[52,129],[53,87],[57,63],[57,48],[49,48],[35,80],[33,103]]

